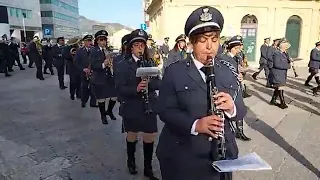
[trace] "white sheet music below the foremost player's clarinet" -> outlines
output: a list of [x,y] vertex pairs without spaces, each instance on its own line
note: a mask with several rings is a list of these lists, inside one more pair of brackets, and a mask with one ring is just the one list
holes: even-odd
[[255,152],[234,160],[221,160],[212,163],[218,172],[261,171],[272,167]]

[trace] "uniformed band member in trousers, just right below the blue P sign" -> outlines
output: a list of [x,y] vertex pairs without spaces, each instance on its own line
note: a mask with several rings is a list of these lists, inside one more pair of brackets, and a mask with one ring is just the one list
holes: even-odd
[[62,51],[64,48],[64,37],[57,38],[57,44],[52,47],[52,54],[53,54],[53,62],[54,66],[57,69],[58,73],[58,81],[59,87],[61,90],[66,89],[67,87],[64,85],[64,70],[65,70],[65,60],[62,57]]

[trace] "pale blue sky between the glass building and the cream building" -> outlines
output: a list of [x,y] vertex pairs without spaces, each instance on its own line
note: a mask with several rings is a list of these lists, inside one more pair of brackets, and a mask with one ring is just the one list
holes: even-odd
[[140,28],[142,0],[79,0],[79,13],[88,19]]

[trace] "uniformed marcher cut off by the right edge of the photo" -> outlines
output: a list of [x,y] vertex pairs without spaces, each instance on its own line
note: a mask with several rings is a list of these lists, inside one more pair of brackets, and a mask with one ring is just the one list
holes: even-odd
[[314,77],[317,84],[320,85],[319,69],[320,69],[320,41],[316,43],[316,47],[310,52],[309,73],[305,86],[311,87],[309,82]]

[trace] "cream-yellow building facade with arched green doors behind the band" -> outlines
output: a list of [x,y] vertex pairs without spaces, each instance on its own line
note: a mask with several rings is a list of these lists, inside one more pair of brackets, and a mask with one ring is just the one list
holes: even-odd
[[250,65],[258,66],[265,37],[286,37],[296,64],[306,66],[310,50],[320,38],[320,3],[289,0],[145,0],[146,21],[155,39],[174,39],[184,31],[189,14],[204,5],[216,7],[225,19],[222,35],[240,34]]

